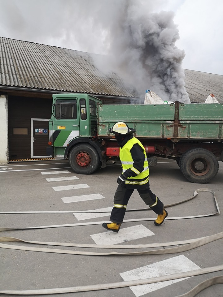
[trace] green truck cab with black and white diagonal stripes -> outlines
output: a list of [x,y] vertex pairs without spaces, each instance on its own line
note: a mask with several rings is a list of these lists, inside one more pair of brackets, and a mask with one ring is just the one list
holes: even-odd
[[100,99],[88,94],[54,94],[48,153],[65,159],[74,144],[89,142],[96,137],[98,105],[101,104]]

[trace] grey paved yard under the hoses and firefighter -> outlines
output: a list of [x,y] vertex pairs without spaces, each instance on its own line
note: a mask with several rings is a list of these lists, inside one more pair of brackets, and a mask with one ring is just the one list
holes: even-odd
[[[150,168],[151,190],[164,202],[164,204],[175,203],[193,196],[198,188],[210,188],[216,193],[220,211],[223,211],[223,163],[219,163],[219,173],[208,184],[195,184],[188,182],[181,174],[179,167],[173,160],[158,160],[157,166]],[[162,162],[162,163],[161,163]],[[164,162],[164,163],[163,163]],[[56,171],[64,173],[55,173]],[[67,161],[42,161],[23,162],[0,165],[1,183],[1,211],[41,211],[41,210],[95,210],[112,207],[113,196],[116,191],[117,176],[120,174],[120,166],[107,166],[91,175],[75,174],[69,168]],[[49,172],[48,174],[42,173]],[[76,177],[77,179],[71,179]],[[47,181],[46,179],[55,179]],[[59,180],[59,178],[65,180]],[[66,180],[66,178],[69,178]],[[79,188],[68,189],[67,186],[77,186]],[[87,185],[88,187],[82,187]],[[54,188],[61,187],[59,191]],[[95,194],[100,197],[90,199]],[[78,197],[87,197],[83,200]],[[74,201],[64,203],[64,199],[69,197]],[[76,199],[76,200],[75,200]],[[145,208],[146,205],[140,199],[138,192],[134,191],[129,200],[128,209]],[[194,200],[168,208],[169,217],[193,216],[196,214],[207,214],[215,212],[215,204],[211,193],[202,192]],[[127,212],[125,219],[155,217],[152,211]],[[72,224],[80,222],[108,221],[109,213],[104,217],[91,217],[81,220],[73,213],[68,214],[1,214],[0,227],[31,227],[46,226],[56,224]],[[141,225],[141,226],[140,226]],[[128,228],[136,228],[134,239],[128,235]],[[152,221],[127,222],[122,224],[120,236],[124,239],[121,244],[146,244],[156,242],[169,242],[198,238],[213,235],[223,230],[223,220],[221,216],[201,217],[186,220],[168,220],[162,226],[156,227]],[[139,228],[139,229],[137,229]],[[140,235],[140,228],[148,230]],[[132,229],[133,230],[133,229]],[[144,230],[144,229],[142,229]],[[102,235],[98,235],[101,234]],[[100,225],[31,229],[31,230],[10,230],[2,231],[1,236],[12,236],[24,240],[90,243],[94,244],[96,237],[105,240],[103,234],[107,230]],[[112,236],[115,236],[113,232]],[[153,233],[153,234],[151,234]],[[119,235],[120,233],[118,233]],[[151,235],[149,235],[151,234]],[[138,235],[138,238],[137,238]],[[130,237],[128,237],[130,236]],[[140,237],[141,236],[141,237]],[[111,235],[108,234],[111,240]],[[120,240],[121,240],[120,239]],[[106,239],[107,240],[107,239]],[[116,239],[114,239],[115,241]],[[132,274],[156,276],[164,273],[173,273],[173,266],[184,271],[191,267],[205,268],[208,266],[220,265],[223,263],[223,240],[208,243],[202,247],[179,254],[168,255],[141,255],[141,256],[83,256],[65,255],[54,253],[41,253],[30,251],[18,251],[0,249],[1,265],[1,287],[0,290],[28,290],[44,289],[56,287],[71,287],[89,284],[111,283],[124,281],[122,276],[130,277]],[[10,243],[18,244],[18,243]],[[28,245],[19,243],[20,245]],[[30,244],[29,246],[33,246]],[[42,247],[42,246],[40,246]],[[45,246],[46,247],[46,246]],[[49,248],[59,248],[52,247]],[[62,248],[62,247],[61,247]],[[104,249],[89,248],[66,248],[83,251],[108,252]],[[140,251],[141,249],[137,250]],[[112,250],[118,252],[130,252],[132,249]],[[135,250],[134,250],[135,251]],[[178,258],[181,256],[181,258]],[[186,258],[186,259],[185,259]],[[165,262],[168,261],[169,262]],[[164,262],[161,262],[164,261]],[[189,266],[188,266],[189,265]],[[148,272],[148,267],[151,267]],[[159,267],[159,269],[158,269]],[[160,268],[162,267],[162,268]],[[172,268],[171,268],[172,267]],[[141,269],[141,272],[138,270]],[[158,270],[157,270],[158,269]],[[172,270],[171,270],[172,269]],[[158,271],[158,272],[157,272]],[[147,273],[147,274],[145,274]],[[201,276],[192,277],[186,280],[172,283],[171,285],[160,287],[149,287],[144,291],[139,288],[138,293],[129,287],[111,289],[103,291],[90,291],[84,293],[67,293],[56,296],[150,296],[150,297],[173,297],[189,291],[192,287],[212,276],[221,275],[216,272]],[[139,294],[139,295],[136,295]],[[199,293],[200,297],[222,296],[222,285],[215,285]],[[1,296],[1,294],[0,294]],[[48,295],[45,295],[48,296]],[[49,295],[52,296],[52,295]]]

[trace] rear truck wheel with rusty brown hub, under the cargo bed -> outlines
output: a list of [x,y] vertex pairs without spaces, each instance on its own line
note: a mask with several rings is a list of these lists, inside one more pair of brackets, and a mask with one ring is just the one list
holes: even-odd
[[192,183],[208,183],[218,172],[215,155],[207,149],[190,149],[180,160],[182,174]]

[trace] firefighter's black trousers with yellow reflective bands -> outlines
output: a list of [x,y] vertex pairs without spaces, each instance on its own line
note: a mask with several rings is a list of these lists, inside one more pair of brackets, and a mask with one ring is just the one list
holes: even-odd
[[[147,189],[136,189],[145,202],[156,214],[162,214],[164,210],[164,204],[160,201],[160,199],[153,194],[150,188]],[[122,187],[118,185],[117,190],[114,196],[114,207],[112,209],[110,221],[120,224],[123,222],[125,216],[126,206],[129,202],[129,198],[131,197],[133,189],[127,189],[126,187]]]

